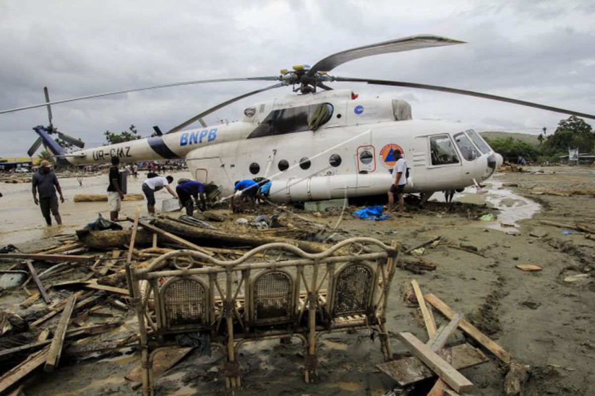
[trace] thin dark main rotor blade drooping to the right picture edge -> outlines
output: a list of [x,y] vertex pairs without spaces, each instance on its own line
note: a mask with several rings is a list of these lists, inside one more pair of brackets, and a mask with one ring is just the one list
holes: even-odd
[[579,116],[579,117],[583,117],[583,118],[595,119],[595,115],[575,112],[574,110],[560,109],[560,107],[547,106],[546,104],[527,102],[526,100],[512,99],[509,97],[491,95],[491,94],[475,92],[475,91],[460,90],[458,88],[441,87],[440,85],[406,83],[404,81],[371,80],[368,78],[350,78],[350,77],[333,77],[333,81],[343,81],[343,82],[350,82],[350,83],[368,83],[368,84],[374,84],[374,85],[390,85],[393,87],[408,87],[408,88],[418,88],[418,89],[422,89],[422,90],[456,93],[456,94],[461,94],[461,95],[466,95],[466,96],[481,97],[483,99],[497,100],[499,102],[519,104],[521,106],[534,107],[536,109],[548,110],[550,112],[565,113],[565,114],[575,115],[575,116]]

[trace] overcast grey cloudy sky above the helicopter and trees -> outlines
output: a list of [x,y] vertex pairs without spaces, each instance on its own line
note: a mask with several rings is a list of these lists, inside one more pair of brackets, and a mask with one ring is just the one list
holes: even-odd
[[[162,83],[275,75],[331,53],[428,33],[464,45],[380,55],[331,74],[446,85],[593,113],[595,0],[561,1],[4,1],[0,0],[0,109]],[[131,123],[166,131],[268,82],[142,91],[52,106],[54,125],[87,147]],[[453,94],[334,83],[408,100],[414,118],[477,130],[553,132],[568,116]],[[205,118],[239,119],[258,94]],[[45,108],[0,115],[0,156],[25,156],[47,125]],[[593,122],[590,122],[593,125]]]

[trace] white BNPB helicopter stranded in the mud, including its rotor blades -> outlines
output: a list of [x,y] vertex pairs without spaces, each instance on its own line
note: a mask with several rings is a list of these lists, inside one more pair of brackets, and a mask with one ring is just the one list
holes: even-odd
[[[33,128],[58,164],[109,163],[112,156],[130,163],[186,159],[195,180],[214,182],[223,187],[224,194],[233,193],[236,180],[256,177],[273,180],[270,195],[271,200],[277,202],[386,194],[397,150],[403,154],[410,170],[405,192],[420,193],[424,201],[435,191],[472,185],[479,190],[479,182],[489,178],[502,164],[502,156],[471,126],[414,120],[411,106],[403,100],[365,98],[351,90],[333,90],[327,85],[333,81],[444,91],[595,119],[585,113],[474,91],[327,74],[340,64],[365,56],[461,43],[464,42],[422,34],[335,53],[312,67],[296,65],[292,71],[283,69],[278,76],[187,81],[55,102],[49,102],[46,94],[46,103],[4,110],[0,114],[40,106],[48,106],[49,110],[50,104],[177,85],[279,81],[211,107],[165,134],[155,128],[158,133],[155,137],[70,154],[49,137],[48,132],[55,131],[53,126]],[[227,104],[288,85],[293,85],[297,94],[249,106],[240,121],[212,126],[202,121],[204,116]],[[317,88],[322,91],[317,92]],[[196,121],[201,122],[201,128],[182,130]],[[39,139],[33,151],[36,144],[39,147]]]

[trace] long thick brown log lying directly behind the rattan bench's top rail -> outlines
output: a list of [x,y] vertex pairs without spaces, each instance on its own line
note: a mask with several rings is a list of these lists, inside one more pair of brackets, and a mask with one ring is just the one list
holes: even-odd
[[[278,236],[265,236],[257,233],[242,233],[220,230],[208,230],[198,227],[186,226],[178,223],[177,221],[168,220],[166,218],[156,218],[155,226],[190,239],[201,240],[203,242],[209,242],[209,244],[225,244],[233,246],[261,246],[267,243],[284,242],[290,245],[297,246],[308,253],[320,253],[328,249],[328,245],[318,242],[309,242],[307,240],[289,239]],[[345,253],[345,252],[343,252]]]

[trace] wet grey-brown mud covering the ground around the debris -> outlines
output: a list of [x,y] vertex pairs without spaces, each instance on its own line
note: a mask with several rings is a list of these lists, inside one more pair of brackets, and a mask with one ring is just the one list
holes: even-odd
[[[340,223],[340,229],[349,232],[349,236],[372,236],[384,242],[397,239],[408,246],[436,236],[476,246],[485,258],[439,245],[428,249],[424,255],[436,263],[436,271],[417,275],[397,272],[387,315],[389,330],[394,333],[411,331],[421,340],[427,339],[417,311],[402,302],[405,287],[416,278],[424,292],[436,294],[455,311],[464,313],[516,360],[531,366],[526,395],[592,395],[595,394],[595,284],[592,277],[574,283],[564,279],[591,271],[595,262],[595,241],[585,239],[582,233],[563,233],[564,229],[541,225],[538,220],[593,224],[595,201],[590,196],[558,197],[533,192],[595,189],[595,169],[531,170],[543,173],[499,174],[490,180],[488,194],[477,195],[471,191],[456,195],[457,202],[453,204],[456,210],[436,202],[422,211],[409,208],[412,217],[380,222],[348,219]],[[41,225],[43,220],[30,199],[29,185],[1,186],[4,198],[0,198],[3,203],[0,245],[71,232],[80,224],[94,220],[97,211],[107,214],[107,202],[74,204],[71,201],[78,191],[103,192],[103,179],[99,176],[85,179],[83,188],[79,188],[76,179],[62,179],[68,199],[62,205],[67,224],[51,231]],[[502,188],[502,182],[518,183],[518,188]],[[133,183],[129,191],[136,192],[134,188],[139,189]],[[160,197],[167,198],[167,193],[161,193]],[[500,208],[497,220],[475,220],[477,214],[490,212],[482,206],[484,204]],[[124,213],[132,214],[136,205],[137,202],[124,202]],[[471,208],[467,210],[469,216],[465,208]],[[319,223],[334,225],[337,222],[336,217],[306,216]],[[543,271],[528,273],[515,268],[516,264],[524,263],[541,265]],[[10,306],[25,297],[24,292],[16,296],[14,293],[3,295],[0,307]],[[437,321],[446,321],[439,313],[434,315]],[[133,332],[134,327],[134,318],[130,315],[122,331]],[[122,337],[122,332],[117,337]],[[453,337],[453,341],[462,339],[461,332]],[[406,351],[396,336],[390,341],[394,353]],[[374,367],[383,359],[378,340],[371,341],[368,332],[324,337],[319,356],[321,381],[306,385],[300,379],[299,343],[247,343],[239,355],[245,388],[236,393],[382,395],[395,385]],[[55,373],[37,374],[27,382],[24,391],[27,395],[135,394],[139,391],[133,391],[123,376],[137,362],[133,351],[79,360],[63,358]],[[157,393],[224,394],[224,383],[217,374],[222,362],[216,353],[212,357],[192,353],[158,379]],[[504,371],[495,359],[464,369],[462,373],[475,384],[473,394],[502,394]],[[412,394],[424,393],[419,387]]]

